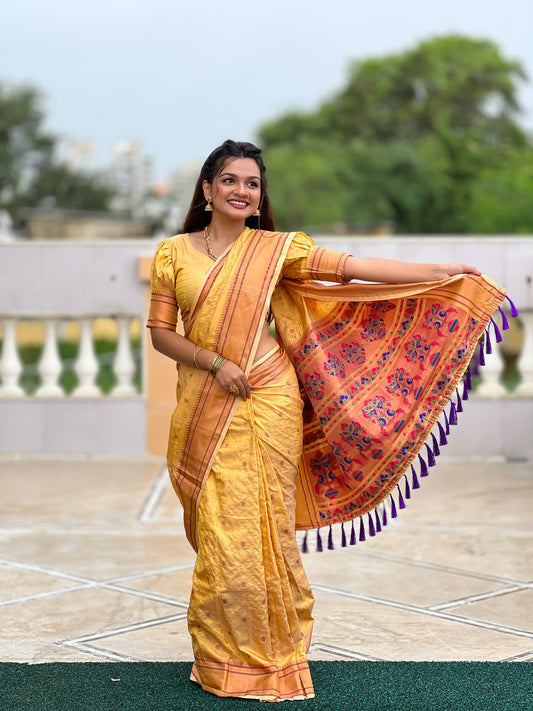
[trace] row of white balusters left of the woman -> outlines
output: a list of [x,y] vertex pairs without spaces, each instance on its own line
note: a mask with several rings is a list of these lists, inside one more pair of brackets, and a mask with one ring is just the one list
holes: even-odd
[[[65,371],[72,371],[77,384],[70,393],[74,398],[132,397],[139,394],[136,374],[140,370],[141,353],[135,349],[130,338],[130,327],[138,321],[136,314],[110,316],[116,325],[116,347],[114,353],[98,356],[95,349],[94,325],[101,316],[69,318],[65,315],[49,316],[41,319],[35,316],[31,321],[42,324],[44,339],[40,358],[36,366],[24,366],[20,346],[17,340],[19,325],[27,319],[4,317],[0,319],[2,327],[2,354],[0,356],[0,398],[63,398],[67,389],[61,384]],[[73,362],[60,356],[60,333],[65,325],[76,324],[79,328],[79,345]],[[109,359],[109,355],[111,358]],[[102,365],[110,365],[115,381],[107,391],[97,383]],[[23,387],[21,381],[28,370],[35,370],[40,385],[32,391]]]

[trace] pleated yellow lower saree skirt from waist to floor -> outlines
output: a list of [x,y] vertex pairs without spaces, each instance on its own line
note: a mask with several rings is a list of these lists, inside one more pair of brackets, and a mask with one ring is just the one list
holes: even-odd
[[279,350],[250,383],[198,507],[191,678],[219,696],[311,698],[313,596],[294,537],[302,403]]

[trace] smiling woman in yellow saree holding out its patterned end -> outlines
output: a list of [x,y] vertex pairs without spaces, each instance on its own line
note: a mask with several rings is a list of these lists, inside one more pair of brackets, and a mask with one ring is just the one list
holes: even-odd
[[191,678],[207,691],[314,696],[295,528],[353,521],[394,490],[503,298],[479,275],[275,232],[259,149],[208,157],[183,234],[155,255],[148,321],[179,369],[168,465],[198,554]]

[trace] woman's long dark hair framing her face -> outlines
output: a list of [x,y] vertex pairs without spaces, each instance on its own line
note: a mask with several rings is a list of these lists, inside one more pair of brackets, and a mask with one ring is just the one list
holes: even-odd
[[261,156],[261,150],[257,146],[254,146],[253,143],[228,140],[224,141],[218,148],[215,148],[203,164],[200,176],[194,188],[189,212],[183,223],[182,232],[201,231],[211,222],[212,213],[205,211],[207,201],[204,197],[202,183],[204,180],[207,180],[207,182],[212,185],[217,175],[222,171],[228,158],[252,158],[259,168],[259,176],[261,179],[261,201],[259,203],[259,209],[261,210],[261,216],[255,217],[252,215],[251,217],[247,217],[245,221],[246,226],[252,229],[259,227],[264,230],[275,229],[274,215],[272,214],[272,208],[270,207],[270,200],[268,198],[265,175],[266,168]]

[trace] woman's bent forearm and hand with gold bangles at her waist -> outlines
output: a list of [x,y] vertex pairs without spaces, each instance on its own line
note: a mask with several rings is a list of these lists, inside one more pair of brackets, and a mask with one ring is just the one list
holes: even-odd
[[[194,355],[195,344],[184,336],[167,328],[151,328],[152,345],[163,355],[184,365],[194,366],[201,370],[209,370],[217,354],[207,348],[197,348]],[[239,395],[245,400],[250,397],[250,383],[244,371],[238,365],[227,360],[216,374],[216,380],[228,390],[231,385],[239,388]]]

